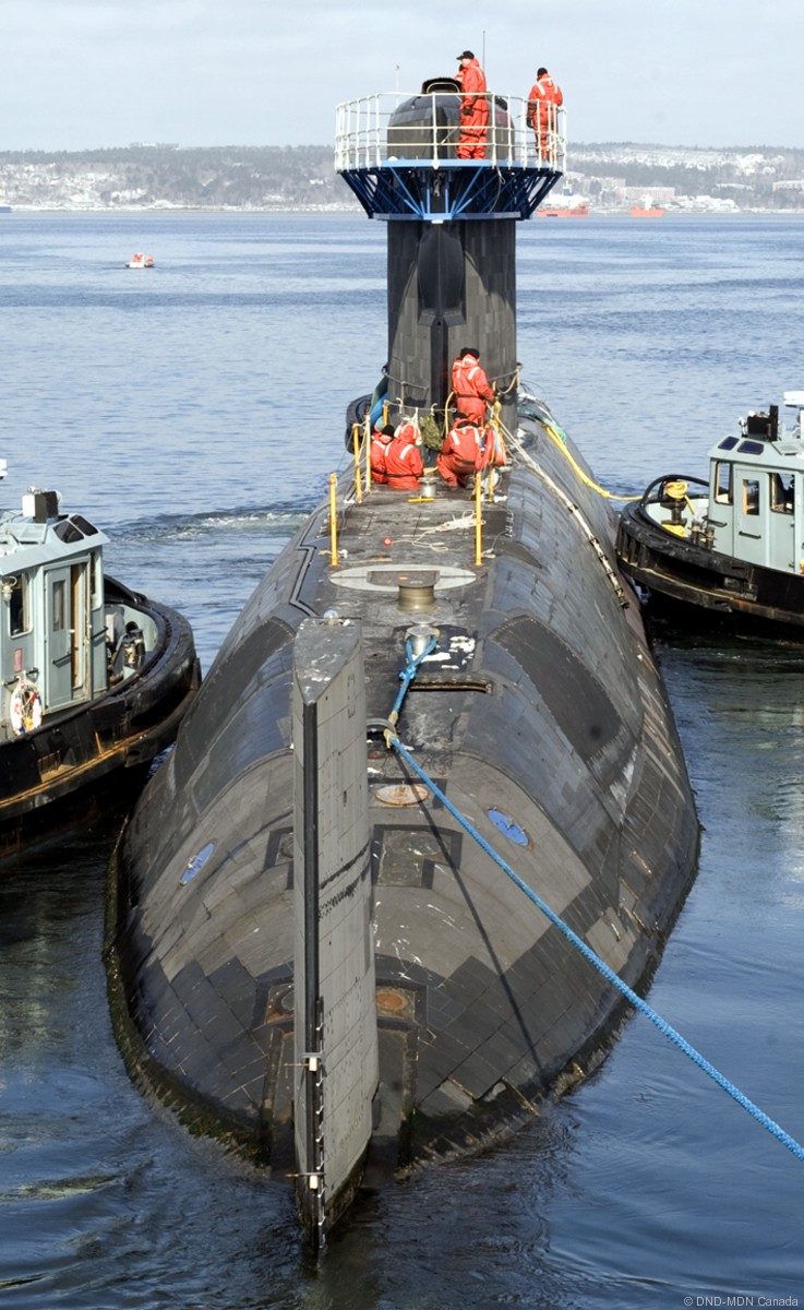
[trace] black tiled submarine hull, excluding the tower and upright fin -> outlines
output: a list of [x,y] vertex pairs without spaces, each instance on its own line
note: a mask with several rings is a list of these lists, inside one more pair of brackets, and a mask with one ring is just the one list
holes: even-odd
[[[195,1127],[292,1171],[291,673],[305,617],[360,620],[380,1086],[368,1176],[474,1150],[593,1069],[619,993],[382,740],[411,622],[439,631],[399,732],[452,804],[630,985],[656,965],[698,825],[615,520],[543,406],[505,495],[342,487],[258,586],[124,833],[107,959],[130,1069]],[[574,456],[576,466],[566,457]],[[589,479],[591,481],[591,479]],[[399,587],[435,570],[410,613]],[[625,591],[623,591],[625,587]],[[625,601],[625,603],[623,603]]]

